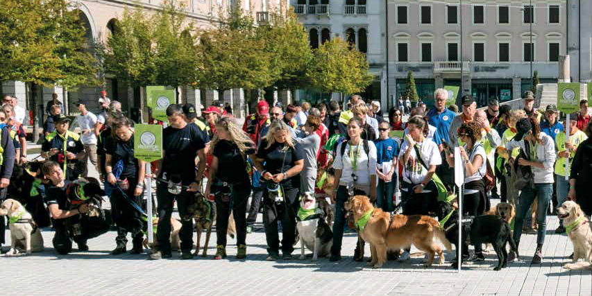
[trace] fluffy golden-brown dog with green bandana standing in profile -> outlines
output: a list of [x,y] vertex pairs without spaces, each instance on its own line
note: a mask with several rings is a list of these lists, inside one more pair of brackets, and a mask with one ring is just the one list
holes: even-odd
[[425,266],[431,266],[437,253],[440,264],[444,263],[442,248],[434,241],[438,238],[446,247],[452,250],[446,234],[440,229],[440,223],[430,216],[394,215],[382,209],[375,209],[369,198],[355,195],[344,204],[348,213],[353,214],[355,223],[360,223],[364,214],[371,213],[368,222],[358,230],[364,241],[370,243],[371,261],[368,265],[374,268],[382,267],[387,260],[387,250],[398,250],[415,245],[419,250],[428,254]]

